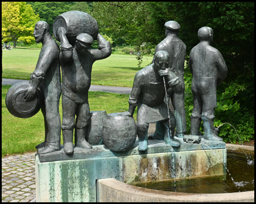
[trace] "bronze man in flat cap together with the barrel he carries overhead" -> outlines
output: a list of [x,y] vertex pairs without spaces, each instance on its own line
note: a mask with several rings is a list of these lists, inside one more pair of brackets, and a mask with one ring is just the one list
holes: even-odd
[[[88,103],[88,90],[90,88],[92,65],[96,60],[104,59],[110,56],[110,42],[106,41],[100,33],[96,33],[98,49],[90,49],[94,32],[88,32],[86,27],[90,24],[92,17],[89,14],[80,11],[70,11],[63,16],[64,19],[72,19],[72,24],[68,20],[62,22],[63,18],[57,17],[55,20],[56,38],[60,40],[60,65],[62,69],[62,104],[63,121],[61,129],[63,130],[64,152],[73,154],[73,129],[75,128],[75,146],[81,148],[92,148],[85,140],[86,128],[90,123],[90,108]],[[77,16],[77,22],[73,19]],[[60,19],[60,20],[58,20]],[[59,23],[56,23],[59,22]],[[62,22],[62,23],[60,23]],[[81,24],[80,24],[81,23]],[[94,25],[97,22],[93,20]],[[96,23],[96,24],[95,24]],[[61,27],[63,25],[63,27]],[[67,26],[66,26],[67,25]],[[82,29],[77,29],[77,26]],[[94,28],[94,27],[90,27]],[[91,31],[91,30],[89,30]],[[76,34],[74,34],[76,33]],[[76,119],[75,119],[76,116]]]

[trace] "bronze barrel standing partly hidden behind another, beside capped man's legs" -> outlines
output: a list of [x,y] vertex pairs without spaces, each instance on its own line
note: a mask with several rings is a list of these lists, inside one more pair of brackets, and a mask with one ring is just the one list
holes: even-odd
[[102,145],[102,129],[106,116],[106,111],[90,111],[91,122],[85,135],[90,145]]

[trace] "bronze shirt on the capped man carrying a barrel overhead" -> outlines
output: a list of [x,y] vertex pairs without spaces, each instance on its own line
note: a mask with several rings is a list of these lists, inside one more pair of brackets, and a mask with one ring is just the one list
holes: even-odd
[[[63,52],[72,52],[69,60]],[[106,41],[105,46],[99,49],[88,49],[80,53],[76,48],[61,46],[60,63],[62,69],[62,94],[76,103],[88,101],[88,91],[91,82],[92,65],[97,59],[103,59],[111,54],[111,45]],[[66,54],[67,56],[67,54]]]

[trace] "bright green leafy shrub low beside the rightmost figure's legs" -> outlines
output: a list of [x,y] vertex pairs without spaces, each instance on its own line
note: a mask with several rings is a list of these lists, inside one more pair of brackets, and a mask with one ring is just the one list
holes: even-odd
[[[187,120],[187,133],[190,132],[191,114],[193,111],[193,95],[191,91],[192,76],[186,74],[185,81],[185,110]],[[225,84],[227,85],[227,84]],[[245,108],[234,97],[243,89],[241,85],[232,84],[217,91],[217,107],[215,108],[214,127],[218,128],[219,136],[224,142],[245,142],[254,139],[254,115]],[[203,123],[200,128],[204,132]]]

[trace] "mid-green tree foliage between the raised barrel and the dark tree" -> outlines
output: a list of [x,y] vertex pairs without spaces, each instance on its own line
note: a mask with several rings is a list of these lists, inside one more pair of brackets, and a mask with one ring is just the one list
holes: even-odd
[[100,32],[112,37],[115,44],[139,46],[149,37],[151,29],[150,14],[145,8],[146,2],[97,2],[93,4],[92,16]]

